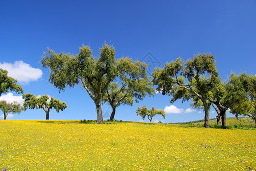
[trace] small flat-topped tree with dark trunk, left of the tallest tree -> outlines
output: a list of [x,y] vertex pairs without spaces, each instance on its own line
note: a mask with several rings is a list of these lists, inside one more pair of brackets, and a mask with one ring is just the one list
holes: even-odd
[[42,95],[40,97],[36,97],[31,93],[27,93],[23,95],[22,98],[25,100],[23,106],[25,110],[29,109],[43,109],[46,113],[46,120],[49,120],[50,109],[54,108],[56,112],[63,111],[67,105],[65,102],[61,102],[58,99],[54,99],[51,97],[49,100],[49,96]]

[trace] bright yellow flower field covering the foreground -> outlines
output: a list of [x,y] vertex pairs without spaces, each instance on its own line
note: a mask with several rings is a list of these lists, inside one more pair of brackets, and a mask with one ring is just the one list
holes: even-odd
[[256,131],[1,120],[0,170],[255,170]]

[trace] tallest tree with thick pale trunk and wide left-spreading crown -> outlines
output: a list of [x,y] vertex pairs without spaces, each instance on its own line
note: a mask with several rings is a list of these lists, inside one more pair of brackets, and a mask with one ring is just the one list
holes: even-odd
[[113,46],[106,43],[99,49],[98,59],[92,55],[89,46],[82,46],[80,53],[55,53],[48,48],[41,63],[44,68],[50,68],[51,82],[60,91],[66,87],[74,87],[82,83],[82,87],[89,93],[97,108],[97,123],[103,123],[101,103],[109,84],[118,75]]

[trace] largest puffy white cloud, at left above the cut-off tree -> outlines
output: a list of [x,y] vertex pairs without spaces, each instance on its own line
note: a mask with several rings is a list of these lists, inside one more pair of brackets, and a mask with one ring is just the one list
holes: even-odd
[[43,74],[42,70],[33,68],[30,64],[24,63],[22,60],[15,61],[14,64],[0,62],[0,68],[7,70],[8,76],[17,79],[21,83],[37,81]]

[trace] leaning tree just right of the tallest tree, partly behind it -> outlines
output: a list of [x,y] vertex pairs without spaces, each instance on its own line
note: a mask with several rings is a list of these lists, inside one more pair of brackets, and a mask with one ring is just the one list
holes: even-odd
[[112,113],[110,120],[114,120],[115,109],[119,105],[133,105],[133,101],[136,103],[139,100],[143,100],[146,95],[155,94],[153,83],[150,81],[150,77],[147,76],[147,64],[136,60],[133,62],[130,58],[121,58],[117,63],[118,82],[113,80],[110,83],[109,88],[105,96],[104,102],[108,102],[112,107]]

